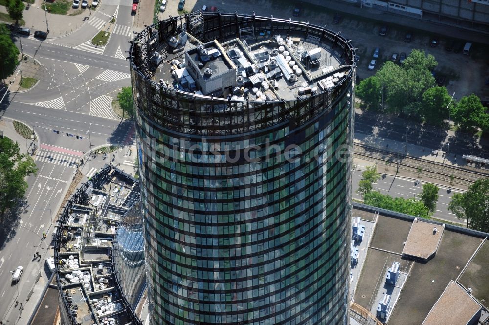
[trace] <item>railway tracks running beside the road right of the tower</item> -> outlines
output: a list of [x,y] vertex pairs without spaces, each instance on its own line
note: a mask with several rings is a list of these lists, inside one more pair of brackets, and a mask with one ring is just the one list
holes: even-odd
[[354,144],[354,156],[452,184],[469,186],[478,179],[489,177],[489,171],[484,169],[475,171],[470,166],[454,167],[360,144]]

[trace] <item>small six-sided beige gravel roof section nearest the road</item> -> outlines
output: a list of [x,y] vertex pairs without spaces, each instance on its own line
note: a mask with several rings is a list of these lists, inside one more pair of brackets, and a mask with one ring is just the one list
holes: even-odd
[[[434,227],[437,228],[436,232],[433,231]],[[423,260],[430,258],[436,253],[443,229],[443,226],[424,222],[420,218],[415,219],[411,224],[402,254]]]

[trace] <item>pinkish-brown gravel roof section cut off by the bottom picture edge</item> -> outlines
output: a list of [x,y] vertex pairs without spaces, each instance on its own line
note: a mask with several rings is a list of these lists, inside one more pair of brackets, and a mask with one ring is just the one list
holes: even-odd
[[481,306],[458,283],[450,281],[422,325],[465,325]]

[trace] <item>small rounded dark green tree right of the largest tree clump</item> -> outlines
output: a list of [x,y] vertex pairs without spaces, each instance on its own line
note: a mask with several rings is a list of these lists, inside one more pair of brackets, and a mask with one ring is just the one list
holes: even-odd
[[448,118],[451,97],[445,87],[431,87],[422,96],[422,117],[430,125],[442,125]]

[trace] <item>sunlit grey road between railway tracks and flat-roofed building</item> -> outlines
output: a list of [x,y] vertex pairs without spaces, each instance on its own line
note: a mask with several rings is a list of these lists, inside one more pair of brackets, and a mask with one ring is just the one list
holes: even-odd
[[[358,182],[362,179],[363,170],[356,169],[353,171],[353,186],[352,186],[352,196],[355,199],[362,200],[363,196],[358,194]],[[420,199],[419,195],[422,192],[422,187],[426,182],[422,179],[420,183],[415,185],[416,179],[406,178],[406,177],[394,177],[392,175],[382,176],[377,183],[374,183],[374,189],[382,194],[388,194],[393,197],[410,198],[414,197]],[[448,188],[442,185],[438,185],[438,202],[436,205],[436,210],[433,217],[450,222],[467,222],[467,220],[460,220],[455,217],[453,213],[448,211],[448,204],[454,193],[464,193],[458,189],[452,189],[448,193]]]

